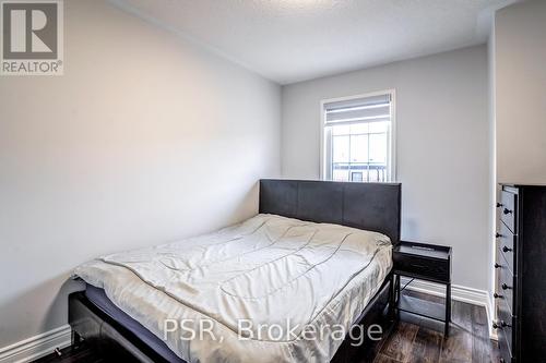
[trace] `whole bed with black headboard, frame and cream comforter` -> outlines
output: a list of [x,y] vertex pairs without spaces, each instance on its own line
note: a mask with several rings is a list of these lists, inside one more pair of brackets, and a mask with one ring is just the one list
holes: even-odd
[[349,362],[351,332],[389,311],[400,199],[394,183],[261,180],[239,225],[76,268],[74,343],[141,362]]

